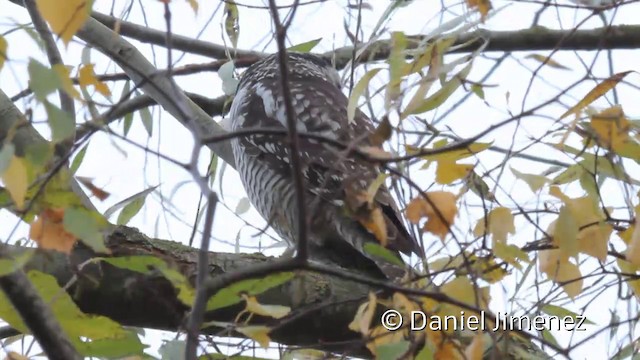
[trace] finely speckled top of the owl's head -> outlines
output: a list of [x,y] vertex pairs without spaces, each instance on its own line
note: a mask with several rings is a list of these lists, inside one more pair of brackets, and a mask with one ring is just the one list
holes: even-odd
[[[340,75],[331,63],[323,57],[297,52],[287,52],[287,65],[291,80],[321,80],[342,88]],[[280,77],[278,54],[271,54],[251,65],[242,74],[239,88],[254,85],[265,79]]]

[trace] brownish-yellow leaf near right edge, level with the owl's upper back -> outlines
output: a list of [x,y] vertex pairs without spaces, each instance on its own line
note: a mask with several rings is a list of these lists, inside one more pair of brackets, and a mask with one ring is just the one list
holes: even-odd
[[602,147],[618,150],[629,140],[631,124],[620,105],[612,106],[591,116],[591,127]]

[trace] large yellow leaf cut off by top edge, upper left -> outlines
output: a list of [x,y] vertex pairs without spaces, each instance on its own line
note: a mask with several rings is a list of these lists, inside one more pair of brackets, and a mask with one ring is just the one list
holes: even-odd
[[38,11],[65,44],[69,44],[89,18],[92,3],[88,0],[36,0]]

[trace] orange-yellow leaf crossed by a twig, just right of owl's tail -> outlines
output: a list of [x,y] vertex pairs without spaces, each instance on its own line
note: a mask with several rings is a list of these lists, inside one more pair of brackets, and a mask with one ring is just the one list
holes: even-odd
[[429,201],[417,197],[407,205],[407,219],[417,224],[423,217],[427,217],[424,230],[438,235],[444,241],[458,213],[456,196],[446,191],[426,192],[424,196]]

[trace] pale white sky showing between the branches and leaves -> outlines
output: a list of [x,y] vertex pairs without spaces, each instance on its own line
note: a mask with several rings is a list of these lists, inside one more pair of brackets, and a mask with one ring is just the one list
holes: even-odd
[[[390,30],[404,31],[406,34],[424,34],[437,28],[443,22],[443,19],[446,21],[465,13],[464,4],[451,1],[443,2],[448,7],[448,11],[444,14],[442,14],[441,2],[417,0],[411,6],[400,9],[387,26]],[[143,24],[140,8],[141,2],[131,3],[131,14],[128,20]],[[264,5],[263,1],[260,0],[244,0],[242,3]],[[363,11],[363,29],[367,36],[375,26],[388,1],[370,1],[370,3],[373,8]],[[129,2],[127,1],[114,1],[113,4],[107,1],[96,1],[94,9],[103,13],[109,13],[113,8],[114,14],[119,15],[122,9],[125,9],[128,4]],[[165,29],[162,3],[145,1],[142,2],[142,5],[144,6],[146,21],[149,27],[160,30]],[[322,38],[321,43],[315,51],[328,51],[347,45],[345,43],[346,40],[343,29],[343,20],[346,19],[344,11],[345,5],[345,1],[327,1],[323,4],[301,7],[289,31],[290,43],[297,44],[311,39]],[[218,44],[223,43],[223,41],[228,43],[228,39],[223,35],[224,30],[222,30],[223,11],[221,8],[218,8],[218,6],[219,3],[217,1],[202,1],[198,15],[194,15],[186,1],[176,0],[172,2],[171,11],[174,21],[174,33],[193,37],[204,29],[201,39]],[[502,8],[502,10],[483,26],[492,30],[526,28],[531,24],[534,12],[540,8],[539,4],[516,4],[505,1],[494,1],[494,6],[495,8]],[[639,13],[640,5],[638,4],[624,6],[622,11],[615,14],[614,23],[636,24],[637,14]],[[211,14],[214,14],[213,20],[207,26],[206,24]],[[557,11],[556,9],[549,8],[541,16],[539,24],[550,28],[569,29],[588,15],[589,12],[587,11],[575,11],[568,8]],[[607,13],[605,16],[611,18],[614,14]],[[267,52],[274,51],[276,47],[270,35],[270,21],[271,19],[268,16],[267,10],[242,7],[240,9],[240,38],[238,47]],[[0,3],[0,34],[12,29],[15,22],[21,24],[30,22],[26,11],[6,1]],[[355,21],[352,19],[350,24],[353,31]],[[600,25],[602,25],[601,20],[598,17],[594,17],[587,21],[581,28],[587,29]],[[9,41],[8,53],[10,61],[5,64],[5,68],[0,72],[0,86],[5,93],[12,96],[27,86],[28,79],[24,74],[26,74],[28,59],[33,57],[42,63],[46,63],[46,56],[23,31],[12,32],[6,35],[6,38]],[[19,44],[19,46],[17,46],[17,44]],[[80,44],[73,43],[67,50],[64,50],[63,46],[61,46],[61,48],[63,49],[62,52],[66,64],[72,66],[80,64],[80,51],[82,50]],[[152,47],[148,45],[140,44],[138,48],[158,67],[165,67],[166,51],[164,48],[154,47],[153,52]],[[536,53],[547,54],[544,52]],[[442,122],[438,124],[438,127],[444,129],[442,126],[446,124],[446,126],[452,129],[453,133],[461,137],[475,135],[492,123],[497,123],[508,118],[510,116],[509,112],[517,114],[523,108],[530,108],[558,96],[563,88],[584,76],[585,69],[591,67],[594,56],[596,56],[595,52],[557,53],[553,59],[570,67],[571,70],[563,71],[545,67],[539,71],[537,77],[532,81],[531,71],[536,69],[539,63],[531,59],[526,59],[525,57],[528,54],[529,53],[516,53],[512,55],[500,65],[496,73],[486,81],[485,84],[488,85],[488,87],[485,88],[485,98],[488,105],[477,97],[471,96],[462,106],[444,118]],[[173,59],[180,58],[180,55],[182,54],[176,52],[173,55]],[[486,58],[489,59],[496,59],[499,56],[500,54],[498,53],[486,54]],[[640,63],[640,54],[637,51],[615,51],[613,56],[614,72],[638,69],[637,64]],[[471,80],[479,81],[493,65],[494,62],[486,58],[476,59],[474,69],[469,77]],[[92,52],[92,59],[94,62],[97,62],[97,73],[120,72],[119,69],[116,69],[111,62],[105,61],[105,58],[96,51]],[[207,61],[210,60],[204,57],[189,55],[182,57],[181,61],[175,65],[180,66]],[[609,75],[605,52],[597,53],[595,65],[592,69],[593,74],[597,77],[604,78]],[[632,74],[628,80],[632,84],[637,85],[638,75]],[[221,83],[215,73],[181,76],[177,78],[177,81],[183,89],[187,91],[208,97],[217,97],[222,94]],[[527,97],[523,99],[530,82],[530,91]],[[381,86],[384,84],[384,79],[374,81],[372,84],[374,86]],[[568,106],[574,105],[594,85],[594,82],[584,82],[570,94],[565,95],[562,98],[563,103]],[[114,99],[120,96],[122,87],[122,82],[111,86]],[[446,109],[455,103],[454,99],[459,99],[464,94],[464,90],[459,90],[452,99],[449,99],[449,101],[445,103],[442,109],[427,113],[423,115],[423,117],[428,121],[439,118],[440,114],[444,113]],[[637,90],[631,86],[621,85],[618,95],[625,112],[632,118],[637,117],[637,114],[640,113],[636,100],[638,96]],[[56,100],[57,98],[52,96],[51,99]],[[609,96],[608,99],[611,100],[612,97]],[[41,111],[42,109],[39,105],[36,105],[32,99],[22,99],[18,101],[17,105],[22,109],[35,106],[34,119],[40,121],[45,120],[43,112]],[[596,105],[606,106],[607,102],[605,99],[601,99],[596,102]],[[381,110],[382,107],[379,103],[376,104],[376,111]],[[514,148],[519,149],[530,142],[530,136],[541,136],[549,129],[556,128],[557,124],[555,124],[555,121],[565,110],[566,108],[560,106],[549,106],[541,112],[548,117],[536,116],[525,118],[521,121],[517,129],[514,126],[501,128],[499,131],[493,132],[482,139],[482,141],[493,141],[496,145],[503,148],[508,148],[513,142]],[[150,148],[159,150],[173,159],[188,162],[193,143],[189,132],[159,108],[154,108],[153,113],[155,115],[154,136],[148,139],[139,121],[139,117],[136,116],[128,138],[139,144],[147,144]],[[78,119],[86,116],[82,110],[80,114]],[[378,115],[379,114],[380,112],[378,112]],[[113,128],[120,130],[121,126],[115,125]],[[39,130],[47,133],[47,129],[44,126],[39,127]],[[550,138],[547,140],[549,141]],[[203,154],[205,154],[202,157],[203,168],[206,166],[206,161],[208,160],[206,153],[207,152],[203,152]],[[536,146],[533,151],[529,153],[546,158],[556,158],[564,162],[572,162],[570,157],[559,157],[558,152],[553,152],[549,150],[548,146],[544,145]],[[496,155],[495,153],[481,156],[480,166],[482,170],[480,173],[501,164],[503,161],[504,157]],[[511,160],[508,166],[528,173],[540,173],[549,167],[548,165],[540,165],[525,160]],[[638,174],[637,166],[629,168],[627,171],[631,174]],[[199,190],[197,186],[193,184],[191,176],[187,172],[167,162],[163,162],[153,155],[145,154],[141,150],[122,141],[110,139],[105,135],[98,134],[91,140],[89,151],[78,174],[94,178],[96,185],[112,193],[112,196],[104,202],[95,201],[100,210],[105,210],[114,203],[142,191],[149,186],[161,184],[159,189],[164,197],[164,201],[160,201],[157,193],[149,197],[143,211],[141,211],[129,225],[140,228],[149,236],[173,239],[183,243],[188,241],[191,224],[194,221],[197,210],[196,205],[199,198]],[[413,171],[412,178],[414,181],[427,187],[433,182],[433,171]],[[539,204],[540,201],[549,199],[547,195],[533,194],[523,182],[514,182],[511,172],[508,169],[506,169],[500,183],[503,189],[497,192],[497,196],[503,201],[503,205],[505,206],[509,206],[515,201],[525,208],[533,208]],[[264,247],[273,244],[273,241],[269,240],[267,236],[263,235],[259,239],[260,241],[257,241],[258,239],[253,237],[258,233],[259,230],[257,229],[261,229],[265,224],[254,210],[250,210],[242,215],[242,218],[246,219],[247,223],[253,226],[247,226],[245,221],[234,214],[234,209],[238,202],[244,197],[244,191],[239,184],[240,181],[237,174],[228,167],[224,173],[222,182],[216,181],[215,189],[222,189],[220,195],[222,195],[223,202],[228,209],[224,207],[218,208],[213,231],[216,241],[212,244],[212,251],[235,251],[236,244],[243,245],[241,248],[242,251],[256,251],[258,249],[257,246]],[[436,188],[439,189],[440,187],[436,186],[432,188],[432,190]],[[572,192],[573,190],[569,189],[569,193],[579,195],[579,192]],[[506,197],[505,194],[507,193],[513,196],[513,200]],[[608,183],[607,186],[603,188],[603,193],[606,193],[607,199],[611,200],[611,205],[621,204],[623,193],[618,184],[614,184],[613,182]],[[460,207],[461,216],[456,220],[458,236],[468,236],[469,229],[472,229],[475,221],[482,216],[482,211],[478,205],[480,205],[479,199],[471,193],[464,198]],[[165,207],[164,209],[163,206]],[[170,211],[165,211],[166,208]],[[628,216],[625,215],[626,212],[624,211],[620,214],[622,214],[621,216]],[[115,217],[113,217],[112,220],[115,221]],[[518,235],[511,239],[510,242],[522,245],[541,237],[541,234],[532,231],[533,228],[531,225],[521,220],[522,219],[518,219],[516,222]],[[16,221],[16,218],[12,215],[6,212],[0,212],[0,223],[10,224],[10,226],[3,226],[3,228],[12,228]],[[541,227],[546,228],[549,221],[549,219],[543,219],[541,221]],[[18,240],[20,237],[25,236],[25,234],[27,234],[27,228],[25,225],[22,225],[17,235],[9,240]],[[436,244],[435,247],[431,247],[432,255],[435,256],[436,254],[434,253],[440,248],[440,246],[438,246],[439,240],[432,236],[426,236],[423,241],[427,244]],[[199,242],[200,237],[196,236],[194,246],[199,246]],[[453,244],[448,244],[449,249],[455,250],[455,247],[450,247],[452,245]],[[282,249],[274,249],[270,250],[269,253],[277,254],[280,251],[282,251]],[[514,276],[513,281],[507,282],[504,285],[504,289],[501,289],[500,285],[492,288],[494,300],[492,308],[494,311],[505,312],[519,309],[510,303],[510,299],[508,298],[509,290],[513,289],[514,284],[516,281],[519,281],[519,279],[520,276]],[[585,284],[588,283],[589,281]],[[544,284],[541,288],[548,290],[548,285],[549,284]],[[524,288],[526,289],[526,285]],[[616,301],[616,291],[617,288],[613,288],[611,291],[600,295],[596,301],[587,307],[585,315],[596,323],[596,326],[590,327],[588,332],[582,334],[556,332],[556,338],[561,344],[576,342],[576,339],[580,339],[585,335],[591,334],[594,330],[607,326],[610,320],[609,310],[615,309],[616,311],[622,311],[620,316],[623,318],[629,314],[635,314],[636,304],[634,300],[632,299],[631,303],[618,303]],[[531,296],[531,294],[534,294],[534,298],[529,300],[528,297]],[[564,295],[561,294],[560,298],[563,297]],[[527,303],[527,301],[529,301],[529,303],[531,301],[535,302],[535,291],[529,289],[519,293],[517,302]],[[584,302],[580,303],[583,304]],[[574,310],[578,309],[570,300],[560,301],[559,304],[566,305]],[[630,338],[624,338],[625,335],[628,336],[625,332],[628,333],[628,328],[622,327],[618,331],[618,338],[628,343]],[[148,340],[156,344],[157,339],[160,337],[173,337],[172,334],[161,334],[155,331],[151,333],[157,334],[157,337],[149,336]],[[635,336],[633,338],[635,338]],[[572,356],[577,359],[605,358],[611,356],[618,348],[612,341],[613,340],[609,340],[608,333],[604,332],[587,345],[576,349],[572,353]]]

